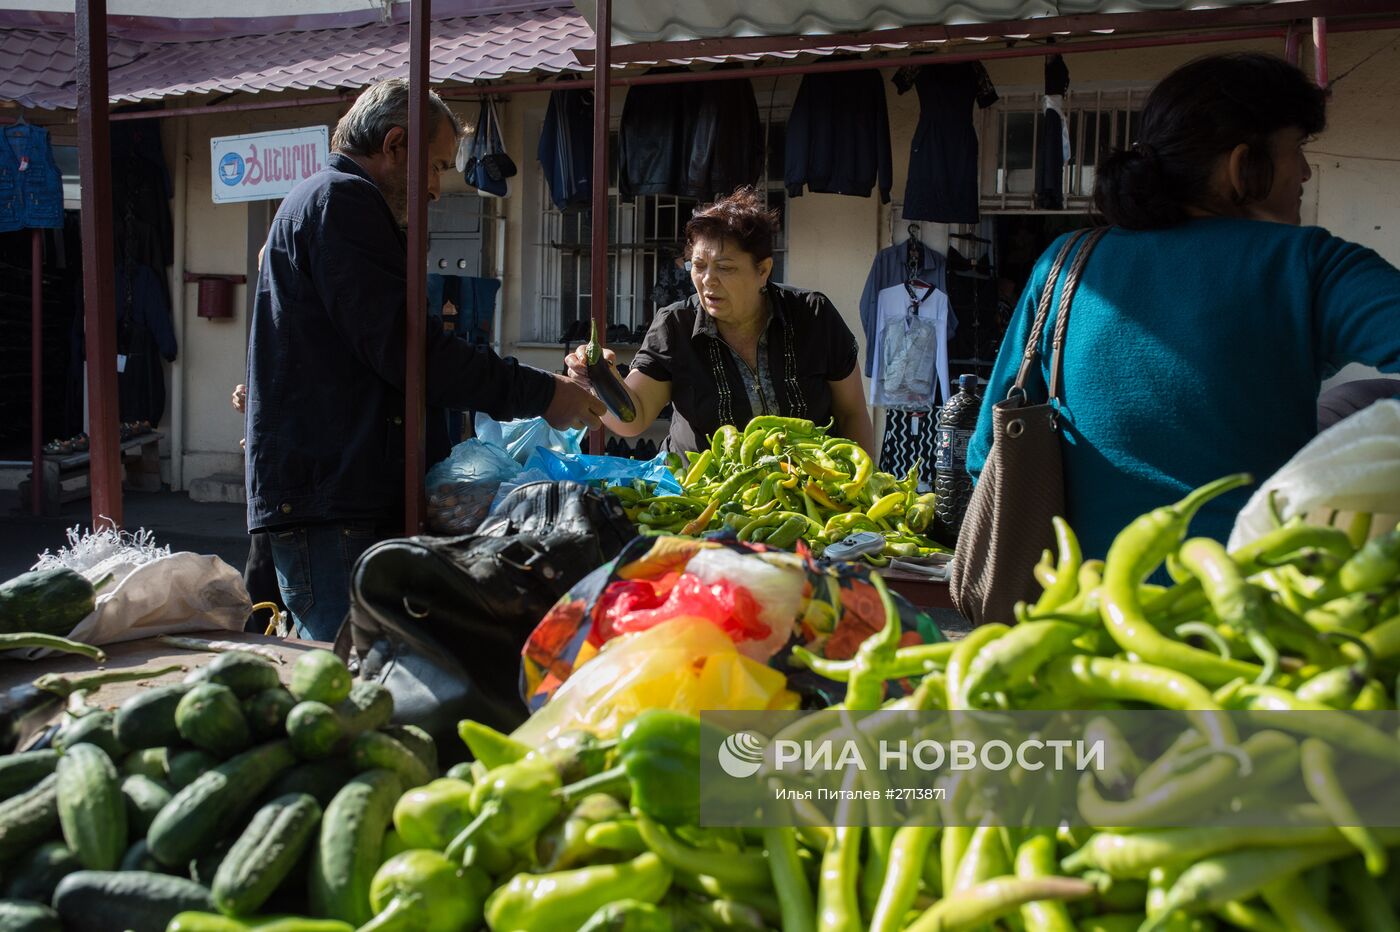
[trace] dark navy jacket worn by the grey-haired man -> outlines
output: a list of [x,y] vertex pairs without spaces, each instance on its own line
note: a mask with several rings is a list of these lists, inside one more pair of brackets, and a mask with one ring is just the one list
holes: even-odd
[[[249,530],[326,522],[399,526],[403,511],[405,238],[351,158],[283,200],[248,339]],[[497,420],[543,414],[549,372],[428,320],[430,407]]]

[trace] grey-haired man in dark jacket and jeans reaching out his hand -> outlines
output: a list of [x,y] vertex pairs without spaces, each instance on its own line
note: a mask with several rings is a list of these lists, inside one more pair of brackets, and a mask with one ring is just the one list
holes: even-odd
[[[248,529],[267,532],[301,637],[330,641],[350,571],[403,526],[409,85],[367,90],[329,165],[294,188],[267,232],[248,346]],[[428,197],[461,125],[430,95]],[[426,313],[426,309],[416,309]],[[598,427],[585,389],[472,346],[428,320],[427,403],[498,420]]]

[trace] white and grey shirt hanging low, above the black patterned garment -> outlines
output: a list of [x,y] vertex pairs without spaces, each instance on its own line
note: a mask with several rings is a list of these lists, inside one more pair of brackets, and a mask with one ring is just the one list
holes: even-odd
[[948,399],[948,295],[902,283],[879,292],[871,404],[928,407],[934,389]]

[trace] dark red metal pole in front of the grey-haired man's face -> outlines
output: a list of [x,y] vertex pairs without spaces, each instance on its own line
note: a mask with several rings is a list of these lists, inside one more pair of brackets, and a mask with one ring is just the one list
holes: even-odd
[[412,0],[409,13],[409,259],[403,361],[403,529],[423,533],[427,504],[427,267],[428,267],[428,38],[431,0]]

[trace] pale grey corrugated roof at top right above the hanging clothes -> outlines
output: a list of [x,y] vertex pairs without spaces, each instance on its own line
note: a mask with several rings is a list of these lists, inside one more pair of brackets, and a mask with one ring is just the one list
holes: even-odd
[[[1099,13],[1268,6],[1289,0],[613,0],[613,45],[767,35],[848,35],[918,25],[967,25]],[[596,0],[575,0],[589,24]]]

